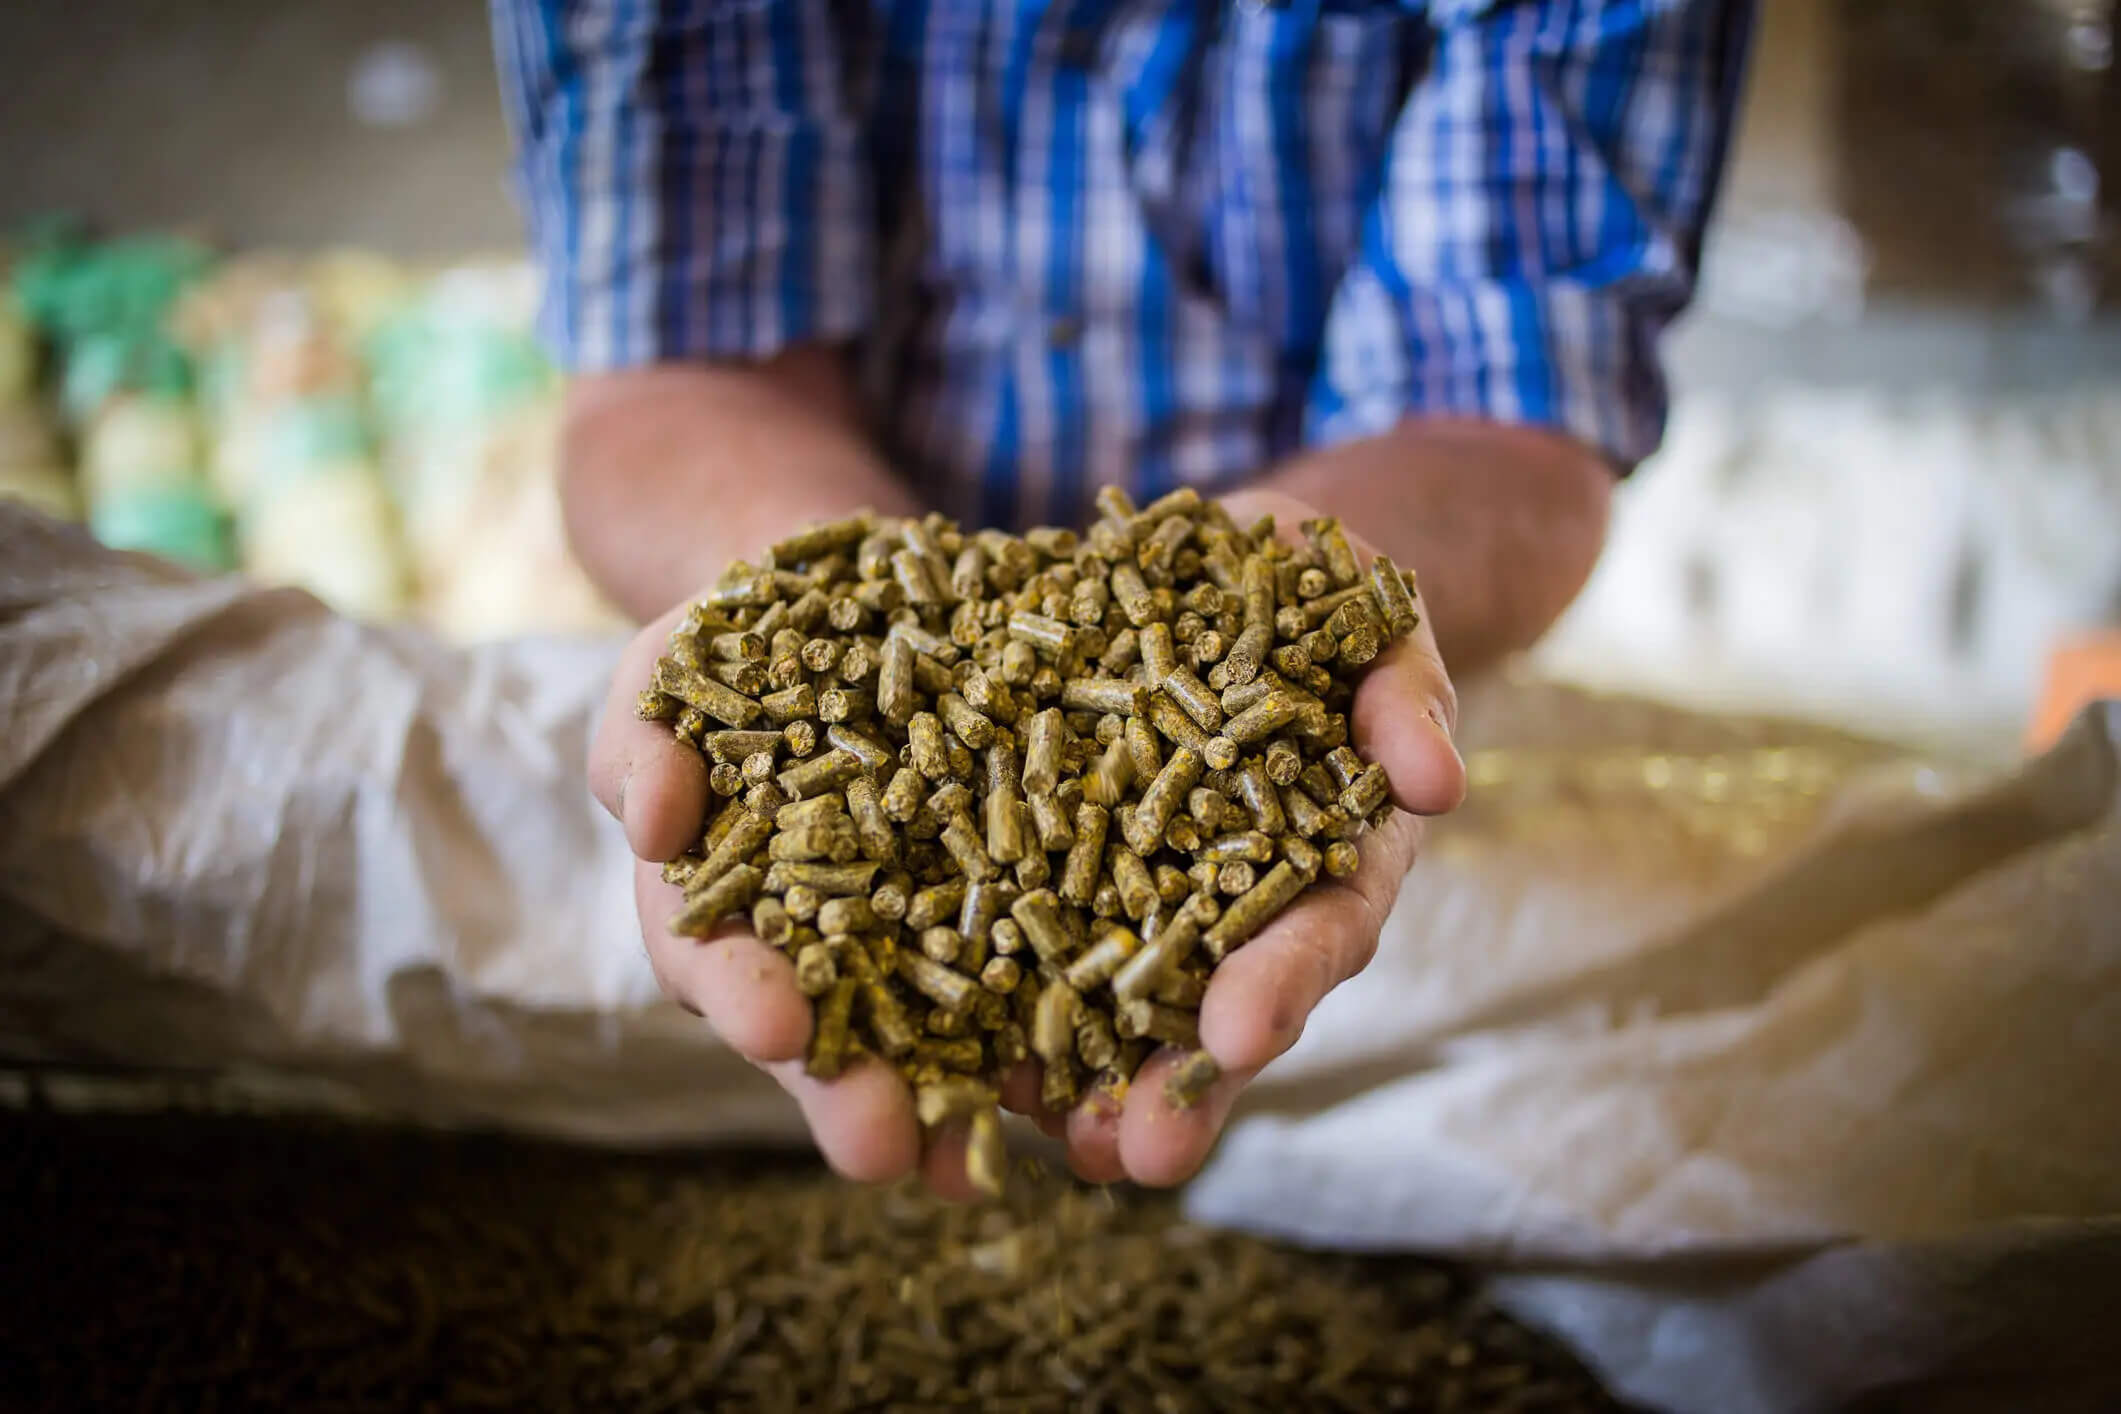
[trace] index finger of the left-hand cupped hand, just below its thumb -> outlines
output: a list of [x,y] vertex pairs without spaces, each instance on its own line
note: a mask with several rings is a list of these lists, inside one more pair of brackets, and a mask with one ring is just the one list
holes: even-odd
[[655,865],[634,865],[641,935],[664,992],[747,1060],[800,1058],[810,1045],[810,998],[795,988],[795,967],[742,924],[711,939],[674,937],[666,922],[683,899]]

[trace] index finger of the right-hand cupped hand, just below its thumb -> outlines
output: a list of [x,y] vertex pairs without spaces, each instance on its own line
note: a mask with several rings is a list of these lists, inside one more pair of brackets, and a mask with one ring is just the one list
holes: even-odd
[[1287,1051],[1326,994],[1368,967],[1419,833],[1419,820],[1393,812],[1364,833],[1355,873],[1319,880],[1215,967],[1200,998],[1200,1043],[1224,1071],[1258,1071]]

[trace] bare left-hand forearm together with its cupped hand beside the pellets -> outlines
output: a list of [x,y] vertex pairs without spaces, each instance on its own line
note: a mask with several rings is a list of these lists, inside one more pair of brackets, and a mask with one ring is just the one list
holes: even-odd
[[[863,1181],[912,1172],[923,1164],[921,1130],[895,1073],[870,1060],[829,1085],[804,1075],[810,1003],[785,956],[734,924],[706,941],[670,935],[681,892],[664,884],[662,865],[700,839],[706,763],[668,725],[634,717],[634,697],[685,602],[728,562],[810,522],[921,507],[861,439],[840,358],[823,348],[764,365],[577,379],[562,458],[575,553],[613,602],[653,619],[613,674],[590,746],[590,789],[626,827],[655,977],[795,1096],[836,1170]],[[927,1164],[937,1187],[963,1191],[961,1149],[931,1145]]]

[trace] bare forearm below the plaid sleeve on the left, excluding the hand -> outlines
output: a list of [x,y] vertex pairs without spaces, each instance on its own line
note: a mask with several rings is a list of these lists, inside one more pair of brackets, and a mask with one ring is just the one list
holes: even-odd
[[861,435],[840,360],[823,348],[577,379],[560,502],[590,579],[636,619],[806,522],[918,509]]

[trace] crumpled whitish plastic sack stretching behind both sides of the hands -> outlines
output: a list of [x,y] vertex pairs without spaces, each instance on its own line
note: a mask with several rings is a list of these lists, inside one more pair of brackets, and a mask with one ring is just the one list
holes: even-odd
[[[607,640],[454,651],[0,509],[0,1049],[592,1141],[785,1138],[655,998]],[[2104,1408],[2121,708],[2002,772],[1468,693],[1468,808],[1196,1217],[1478,1259],[1671,1410]]]

